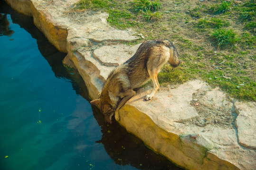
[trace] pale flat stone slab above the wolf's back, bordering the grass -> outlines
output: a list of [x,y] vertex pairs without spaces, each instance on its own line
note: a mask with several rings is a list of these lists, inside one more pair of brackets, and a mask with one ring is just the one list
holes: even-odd
[[[105,12],[68,12],[64,11],[61,23],[66,23],[68,30],[75,30],[76,37],[83,36],[94,42],[128,42],[138,39],[131,30],[114,29],[107,23],[108,13]],[[65,18],[65,19],[64,19]]]

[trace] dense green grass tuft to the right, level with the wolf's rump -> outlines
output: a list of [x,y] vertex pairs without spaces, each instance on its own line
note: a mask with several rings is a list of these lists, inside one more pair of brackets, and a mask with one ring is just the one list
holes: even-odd
[[217,43],[218,48],[234,47],[240,40],[238,34],[232,29],[216,29],[210,33],[210,38]]

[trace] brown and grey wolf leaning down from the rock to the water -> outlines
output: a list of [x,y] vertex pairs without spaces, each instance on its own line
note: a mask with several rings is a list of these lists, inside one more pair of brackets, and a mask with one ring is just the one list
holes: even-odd
[[152,93],[145,97],[151,100],[159,88],[157,74],[169,61],[172,67],[180,64],[179,53],[168,40],[148,40],[143,42],[133,57],[112,70],[103,86],[99,99],[91,101],[104,114],[105,121],[112,123],[112,117],[120,120],[119,109],[135,95],[135,88],[153,82]]

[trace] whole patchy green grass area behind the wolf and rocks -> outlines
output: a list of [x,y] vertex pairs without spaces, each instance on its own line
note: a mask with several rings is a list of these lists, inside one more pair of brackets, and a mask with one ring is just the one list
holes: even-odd
[[[132,28],[144,39],[175,42],[182,63],[165,65],[161,85],[201,78],[231,97],[256,101],[254,0],[80,0],[74,10],[102,10],[118,29]],[[228,78],[227,78],[228,77]]]

